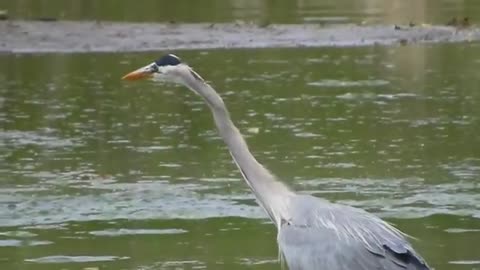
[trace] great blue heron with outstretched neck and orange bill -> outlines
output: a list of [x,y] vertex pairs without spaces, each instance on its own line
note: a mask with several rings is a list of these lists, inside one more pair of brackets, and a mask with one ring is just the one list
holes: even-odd
[[429,269],[402,232],[358,208],[297,194],[252,155],[222,98],[173,54],[123,77],[152,77],[186,86],[210,107],[218,132],[250,189],[278,230],[280,255],[290,270]]

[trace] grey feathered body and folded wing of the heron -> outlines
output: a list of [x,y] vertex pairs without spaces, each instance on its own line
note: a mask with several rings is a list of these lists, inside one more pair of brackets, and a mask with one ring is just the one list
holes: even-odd
[[428,270],[397,229],[361,209],[298,195],[278,242],[290,270]]

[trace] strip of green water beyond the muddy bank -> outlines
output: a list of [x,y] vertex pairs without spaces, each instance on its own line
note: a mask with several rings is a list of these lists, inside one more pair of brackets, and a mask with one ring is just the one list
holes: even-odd
[[13,18],[107,21],[253,22],[269,23],[392,23],[446,24],[452,18],[475,20],[478,1],[463,0],[21,0],[0,1]]

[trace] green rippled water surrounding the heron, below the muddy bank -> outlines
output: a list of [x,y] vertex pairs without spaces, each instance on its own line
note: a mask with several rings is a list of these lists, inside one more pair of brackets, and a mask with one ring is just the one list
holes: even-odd
[[[387,218],[436,269],[474,269],[477,47],[179,54],[281,179]],[[119,80],[157,57],[0,57],[2,269],[279,268],[202,101]]]

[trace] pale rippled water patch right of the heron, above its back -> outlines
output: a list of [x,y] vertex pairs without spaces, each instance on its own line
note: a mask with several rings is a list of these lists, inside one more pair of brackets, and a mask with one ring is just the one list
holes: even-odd
[[319,197],[353,194],[357,196],[355,200],[340,199],[339,202],[384,217],[419,218],[435,214],[480,216],[480,189],[475,183],[431,185],[419,178],[314,179],[302,181],[302,186]]

